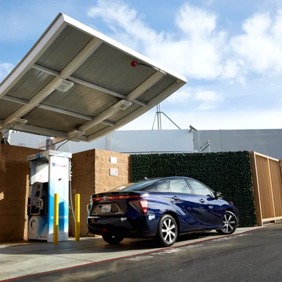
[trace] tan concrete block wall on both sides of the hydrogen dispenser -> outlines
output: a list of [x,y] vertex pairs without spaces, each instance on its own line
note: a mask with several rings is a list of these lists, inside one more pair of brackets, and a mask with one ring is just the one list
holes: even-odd
[[[27,239],[27,196],[29,162],[27,156],[40,152],[0,144],[0,242]],[[118,164],[111,164],[110,157]],[[87,204],[91,195],[105,192],[130,181],[130,156],[104,150],[90,150],[72,155],[72,202],[80,194],[81,234],[87,229]],[[110,168],[118,168],[118,176],[110,176]],[[74,221],[70,211],[70,235]]]

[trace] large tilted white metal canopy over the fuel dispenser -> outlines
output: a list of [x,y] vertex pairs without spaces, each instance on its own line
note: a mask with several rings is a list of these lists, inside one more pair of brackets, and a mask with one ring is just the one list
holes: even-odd
[[0,83],[0,130],[93,141],[186,83],[93,28],[59,14]]

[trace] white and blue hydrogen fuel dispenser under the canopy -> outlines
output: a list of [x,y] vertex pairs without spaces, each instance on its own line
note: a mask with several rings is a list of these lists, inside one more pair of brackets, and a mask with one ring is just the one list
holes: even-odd
[[53,242],[54,194],[59,194],[59,241],[69,238],[69,181],[71,153],[48,150],[28,156],[29,241]]

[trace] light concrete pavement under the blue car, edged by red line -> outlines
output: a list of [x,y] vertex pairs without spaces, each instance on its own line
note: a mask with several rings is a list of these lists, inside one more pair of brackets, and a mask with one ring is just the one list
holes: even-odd
[[[261,227],[238,228],[233,235],[258,228]],[[215,231],[183,235],[173,247],[220,237],[223,236],[219,236]],[[160,250],[162,249],[155,248],[154,242],[149,239],[124,239],[117,246],[105,243],[102,238],[81,238],[80,242],[71,238],[58,245],[27,242],[0,244],[0,281]]]

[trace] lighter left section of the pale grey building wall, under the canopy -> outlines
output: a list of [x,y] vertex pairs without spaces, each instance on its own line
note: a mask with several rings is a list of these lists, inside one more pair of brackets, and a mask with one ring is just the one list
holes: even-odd
[[[10,135],[11,145],[24,144],[25,147],[30,148],[38,148],[38,143],[45,140],[46,137],[27,133],[11,133]],[[69,141],[62,145],[59,151],[77,153],[94,148],[130,154],[194,152],[193,134],[189,130],[120,130],[90,143]]]

